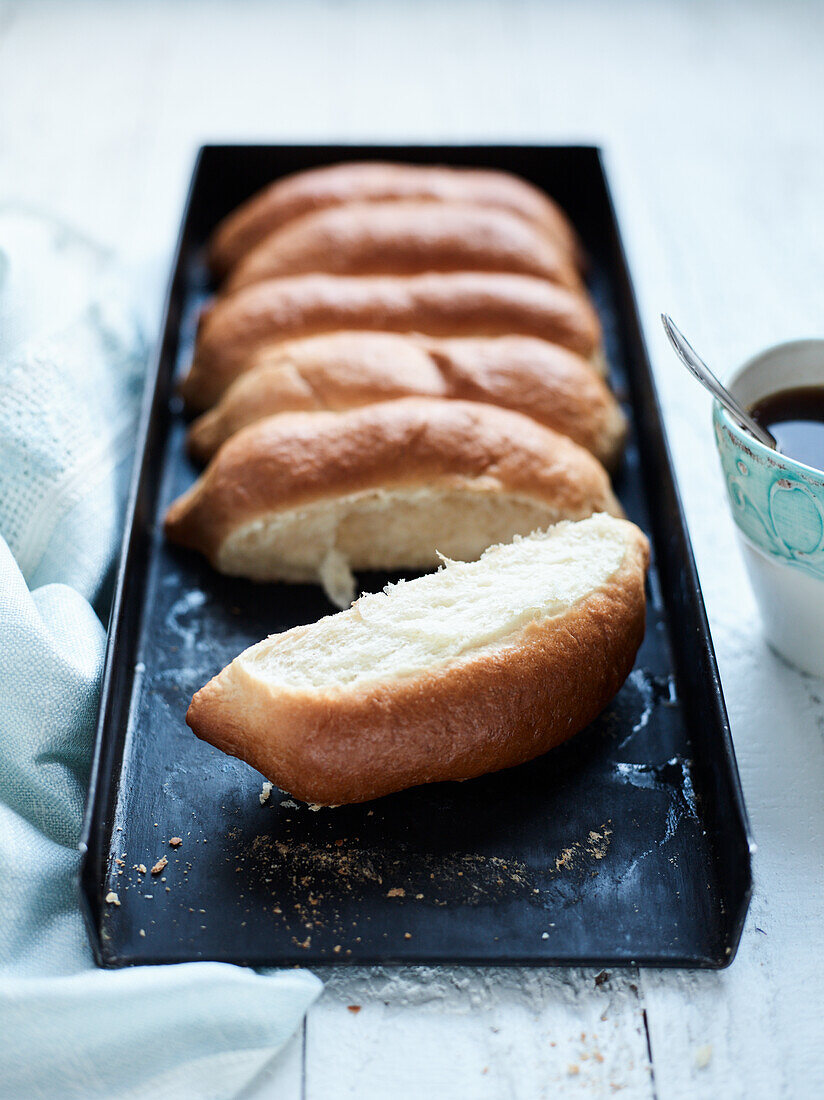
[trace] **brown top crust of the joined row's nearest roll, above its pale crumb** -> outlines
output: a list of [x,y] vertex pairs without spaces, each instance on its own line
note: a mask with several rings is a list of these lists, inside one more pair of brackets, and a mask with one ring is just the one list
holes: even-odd
[[165,531],[217,563],[224,540],[263,516],[375,488],[481,479],[548,504],[558,518],[620,515],[604,468],[567,437],[491,405],[407,397],[243,428],[169,507]]

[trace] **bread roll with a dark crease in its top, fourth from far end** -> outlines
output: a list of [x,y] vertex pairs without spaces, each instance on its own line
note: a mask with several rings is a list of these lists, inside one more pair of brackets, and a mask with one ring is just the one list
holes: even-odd
[[333,332],[274,349],[237,378],[189,430],[200,461],[246,425],[283,413],[342,411],[396,397],[501,405],[585,447],[607,468],[626,419],[590,364],[531,337],[435,340],[388,332]]

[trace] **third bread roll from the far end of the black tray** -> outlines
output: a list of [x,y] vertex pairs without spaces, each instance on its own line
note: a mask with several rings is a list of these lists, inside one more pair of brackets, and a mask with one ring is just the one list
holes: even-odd
[[601,326],[583,295],[529,275],[296,275],[219,299],[202,317],[186,402],[209,408],[264,348],[342,329],[538,337],[589,359]]

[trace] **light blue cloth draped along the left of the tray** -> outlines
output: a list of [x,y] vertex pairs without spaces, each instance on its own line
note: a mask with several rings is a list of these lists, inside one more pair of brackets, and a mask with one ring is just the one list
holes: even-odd
[[318,979],[100,971],[78,909],[97,613],[145,362],[122,309],[138,292],[110,267],[69,228],[0,207],[0,1098],[222,1100],[293,1034]]

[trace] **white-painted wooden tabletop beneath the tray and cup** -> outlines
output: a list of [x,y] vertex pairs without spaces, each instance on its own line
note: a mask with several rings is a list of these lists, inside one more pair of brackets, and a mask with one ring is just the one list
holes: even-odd
[[[0,199],[145,263],[205,140],[598,141],[608,154],[759,850],[723,972],[327,975],[246,1097],[824,1096],[824,683],[763,642],[708,399],[824,327],[824,6],[0,0]],[[360,1012],[349,1011],[360,1005]]]

